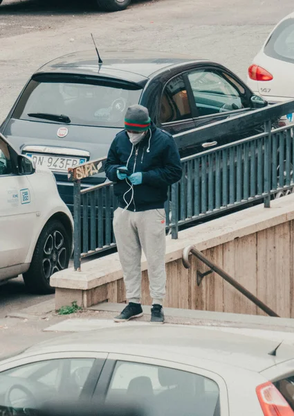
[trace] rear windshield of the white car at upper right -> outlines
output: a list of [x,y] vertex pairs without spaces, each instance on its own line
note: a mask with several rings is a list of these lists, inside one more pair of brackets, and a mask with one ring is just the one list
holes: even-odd
[[286,19],[277,26],[264,53],[271,58],[294,63],[294,19]]

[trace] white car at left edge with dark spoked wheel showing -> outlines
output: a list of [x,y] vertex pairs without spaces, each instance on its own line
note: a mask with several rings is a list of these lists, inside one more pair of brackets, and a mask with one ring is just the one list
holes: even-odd
[[0,284],[22,274],[31,293],[52,293],[50,276],[68,267],[72,242],[53,173],[0,135]]

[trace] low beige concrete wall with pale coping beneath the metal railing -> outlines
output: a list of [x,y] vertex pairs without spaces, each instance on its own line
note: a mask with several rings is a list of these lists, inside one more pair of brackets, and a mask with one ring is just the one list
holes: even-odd
[[[205,311],[260,314],[244,295],[214,273],[200,286],[196,272],[208,268],[191,257],[191,268],[183,268],[181,254],[195,245],[210,260],[265,302],[273,311],[293,317],[294,195],[212,220],[167,238],[167,297],[165,306]],[[143,304],[150,304],[147,264],[142,263]],[[98,271],[99,270],[99,271]],[[66,270],[51,279],[56,287],[56,307],[77,300],[81,306],[98,302],[125,302],[125,287],[118,254],[89,261],[82,272]]]

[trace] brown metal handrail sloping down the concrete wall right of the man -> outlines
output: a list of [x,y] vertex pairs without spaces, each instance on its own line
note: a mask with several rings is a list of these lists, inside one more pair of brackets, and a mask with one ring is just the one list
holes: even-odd
[[204,256],[204,254],[202,254],[199,250],[197,250],[194,247],[194,245],[189,245],[186,248],[184,248],[184,250],[183,250],[182,260],[183,260],[183,265],[184,265],[185,268],[190,268],[191,267],[191,263],[189,261],[189,254],[193,254],[195,257],[197,257],[197,259],[201,260],[204,264],[206,264],[206,266],[208,266],[210,268],[210,270],[208,272],[197,273],[197,283],[198,284],[200,284],[203,277],[205,277],[206,275],[208,275],[208,274],[212,273],[212,271],[214,271],[219,276],[221,276],[223,278],[223,280],[228,281],[228,283],[230,285],[232,285],[235,289],[237,289],[237,291],[242,293],[242,295],[246,296],[249,300],[251,300],[251,302],[253,302],[256,306],[258,306],[261,309],[261,311],[264,311],[269,316],[275,316],[276,318],[280,318],[279,315],[277,315],[277,313],[275,313],[272,309],[270,309],[268,306],[266,306],[266,304],[264,304],[264,302],[261,302],[261,300],[259,300],[258,297],[256,297],[251,292],[249,292],[246,288],[244,288],[244,286],[239,284],[237,282],[237,280],[233,279],[230,275],[228,275],[227,272],[225,272],[223,269],[221,269],[219,266],[217,266],[217,264],[212,263],[212,261],[210,261],[207,257]]

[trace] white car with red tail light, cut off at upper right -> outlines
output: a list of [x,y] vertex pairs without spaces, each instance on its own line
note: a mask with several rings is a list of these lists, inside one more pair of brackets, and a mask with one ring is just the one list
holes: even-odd
[[[294,98],[294,12],[279,21],[248,68],[248,86],[268,103]],[[288,115],[289,121],[291,115]]]

